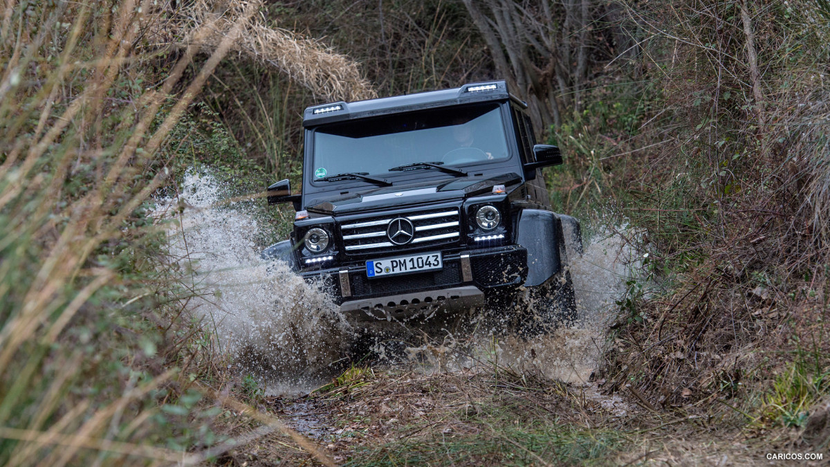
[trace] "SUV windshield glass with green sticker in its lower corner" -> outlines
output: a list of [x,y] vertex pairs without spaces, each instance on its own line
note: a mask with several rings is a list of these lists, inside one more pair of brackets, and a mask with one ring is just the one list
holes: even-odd
[[498,104],[443,108],[317,128],[312,179],[382,174],[418,162],[466,165],[509,157]]

